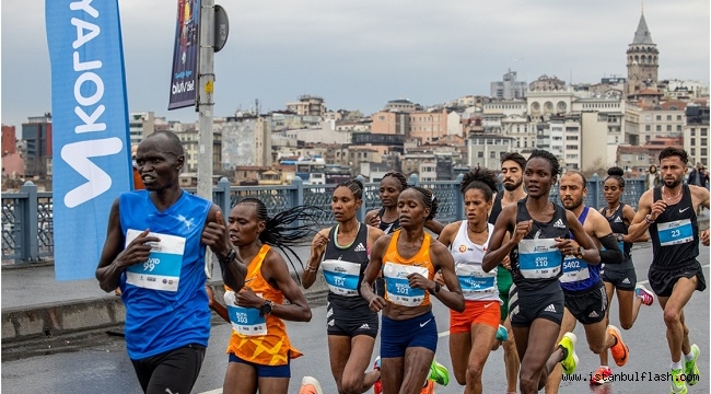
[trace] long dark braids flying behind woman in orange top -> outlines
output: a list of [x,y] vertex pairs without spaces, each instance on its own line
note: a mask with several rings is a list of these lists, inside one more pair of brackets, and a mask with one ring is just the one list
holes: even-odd
[[[249,204],[255,207],[257,219],[265,222],[265,229],[259,233],[259,241],[269,246],[281,250],[289,259],[291,267],[294,268],[296,278],[301,282],[299,270],[296,269],[292,256],[296,258],[302,270],[304,269],[304,264],[296,252],[294,252],[293,247],[298,246],[302,240],[313,235],[315,232],[314,229],[318,224],[313,211],[319,210],[319,208],[313,206],[299,206],[279,212],[275,215],[273,218],[270,218],[267,215],[267,206],[257,198],[247,197],[241,200],[237,205],[240,204]],[[299,221],[301,221],[301,223],[289,227]]]

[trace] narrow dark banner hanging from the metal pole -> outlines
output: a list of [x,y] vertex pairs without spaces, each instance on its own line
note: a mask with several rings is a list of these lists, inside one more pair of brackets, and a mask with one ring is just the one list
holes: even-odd
[[200,0],[178,0],[168,109],[195,105],[200,43]]

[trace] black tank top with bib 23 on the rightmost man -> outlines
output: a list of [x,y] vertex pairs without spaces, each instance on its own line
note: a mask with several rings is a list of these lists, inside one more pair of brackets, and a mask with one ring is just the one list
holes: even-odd
[[[681,200],[667,206],[650,225],[652,265],[656,268],[678,268],[696,262],[699,255],[699,225],[691,190],[683,185]],[[662,199],[662,187],[654,188],[654,201]]]

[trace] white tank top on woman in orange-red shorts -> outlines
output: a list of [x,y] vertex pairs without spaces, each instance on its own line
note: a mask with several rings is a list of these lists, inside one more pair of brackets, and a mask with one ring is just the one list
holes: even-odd
[[483,245],[477,245],[469,240],[467,233],[468,223],[466,220],[459,222],[459,231],[454,237],[450,252],[454,258],[454,271],[459,279],[462,293],[467,301],[497,301],[499,299],[499,288],[497,287],[497,270],[492,269],[485,273],[481,268],[483,254],[487,253],[487,246],[493,233],[493,224],[487,223],[489,237]]

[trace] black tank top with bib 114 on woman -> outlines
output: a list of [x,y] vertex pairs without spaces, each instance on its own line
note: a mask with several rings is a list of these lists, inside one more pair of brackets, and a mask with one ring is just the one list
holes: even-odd
[[368,305],[368,301],[360,296],[361,281],[370,260],[368,225],[360,223],[356,239],[346,247],[336,245],[336,231],[338,225],[334,225],[328,233],[329,241],[322,263],[329,288],[328,302],[346,309]]

